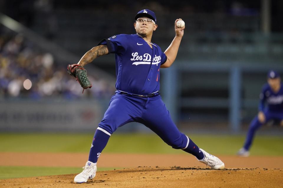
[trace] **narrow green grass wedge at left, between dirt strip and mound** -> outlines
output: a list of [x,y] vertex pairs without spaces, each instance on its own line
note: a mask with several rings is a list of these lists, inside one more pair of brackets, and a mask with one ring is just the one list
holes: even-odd
[[[114,168],[98,168],[98,171],[113,170]],[[117,169],[117,168],[116,168]],[[59,174],[77,174],[81,168],[75,167],[6,167],[0,166],[0,179],[19,177],[39,177]]]

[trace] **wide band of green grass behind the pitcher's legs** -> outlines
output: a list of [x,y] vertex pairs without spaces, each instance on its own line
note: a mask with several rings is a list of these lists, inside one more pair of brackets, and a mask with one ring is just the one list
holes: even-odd
[[[214,155],[234,155],[245,137],[238,135],[190,135],[200,148]],[[0,152],[89,152],[93,134],[0,133]],[[283,155],[283,137],[256,136],[252,155]],[[185,154],[172,149],[155,134],[114,134],[103,150],[111,153]]]

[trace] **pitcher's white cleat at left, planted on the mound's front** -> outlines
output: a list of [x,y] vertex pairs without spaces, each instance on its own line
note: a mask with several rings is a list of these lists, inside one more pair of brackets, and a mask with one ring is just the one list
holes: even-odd
[[85,183],[88,181],[88,179],[93,179],[96,174],[96,163],[93,162],[86,162],[85,166],[83,167],[83,172],[80,174],[76,175],[74,178],[75,183]]

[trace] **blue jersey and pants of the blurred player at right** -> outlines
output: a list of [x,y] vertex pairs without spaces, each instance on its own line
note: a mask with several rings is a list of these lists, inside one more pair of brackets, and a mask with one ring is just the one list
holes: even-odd
[[[267,104],[266,107],[265,104]],[[264,113],[266,118],[265,122],[272,119],[283,120],[283,84],[280,85],[280,90],[277,93],[271,89],[269,84],[263,86],[260,94],[259,111]],[[262,123],[256,116],[249,126],[246,142],[244,144],[246,150],[250,149],[254,134],[261,125]]]

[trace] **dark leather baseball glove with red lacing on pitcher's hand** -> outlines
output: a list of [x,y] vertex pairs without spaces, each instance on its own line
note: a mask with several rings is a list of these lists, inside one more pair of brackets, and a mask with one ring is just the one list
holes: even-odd
[[72,64],[68,65],[68,73],[70,73],[71,76],[77,78],[77,81],[80,83],[80,85],[83,88],[83,91],[87,88],[91,88],[91,82],[88,79],[88,76],[86,75],[86,70],[82,66],[78,64]]

